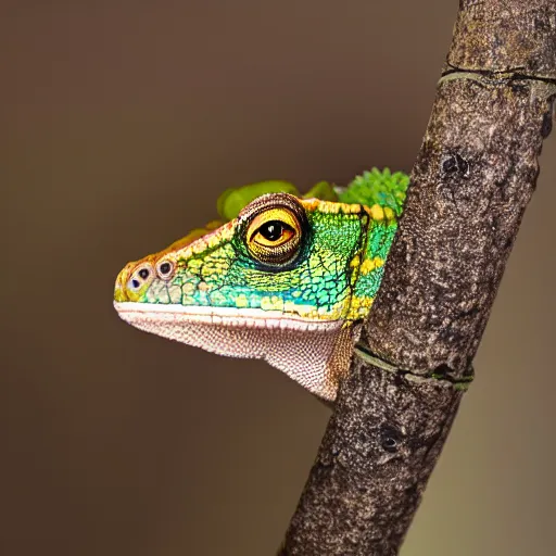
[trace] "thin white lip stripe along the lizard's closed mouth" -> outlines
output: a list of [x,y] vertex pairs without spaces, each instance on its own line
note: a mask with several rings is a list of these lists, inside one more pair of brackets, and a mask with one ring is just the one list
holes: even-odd
[[300,315],[262,308],[203,307],[178,304],[114,302],[119,316],[134,324],[135,320],[160,323],[203,323],[242,328],[278,328],[295,330],[338,330],[343,320],[315,320]]

